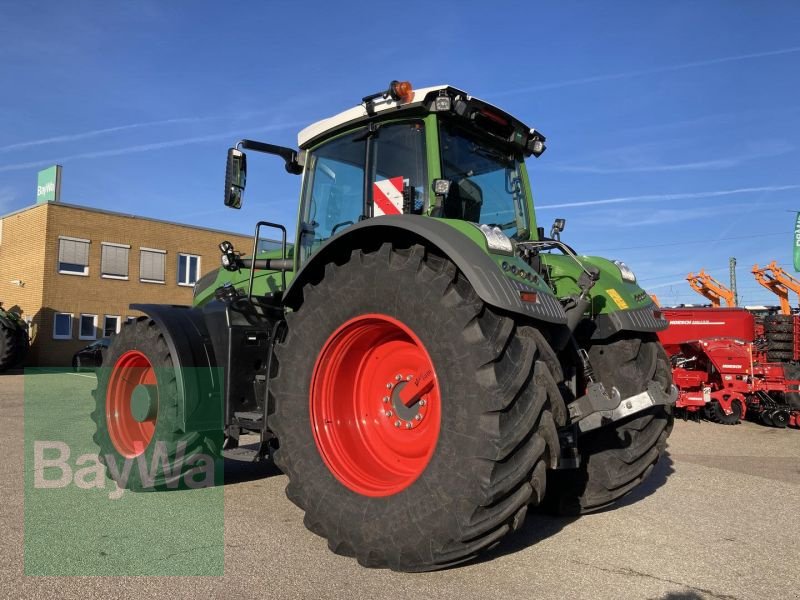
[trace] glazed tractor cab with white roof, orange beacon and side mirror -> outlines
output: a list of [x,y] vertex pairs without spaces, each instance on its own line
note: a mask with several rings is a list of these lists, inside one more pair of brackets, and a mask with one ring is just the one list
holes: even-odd
[[244,150],[281,156],[303,174],[296,262],[365,219],[419,215],[472,224],[489,250],[508,251],[535,231],[524,159],[544,136],[502,110],[450,86],[385,92],[298,135],[299,152],[243,140],[229,151],[225,203],[240,208]]

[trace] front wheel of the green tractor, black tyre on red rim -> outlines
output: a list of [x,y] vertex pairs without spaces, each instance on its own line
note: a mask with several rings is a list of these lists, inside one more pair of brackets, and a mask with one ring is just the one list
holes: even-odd
[[126,323],[104,364],[97,370],[92,420],[108,477],[134,491],[221,481],[222,434],[181,429],[177,365],[155,321]]

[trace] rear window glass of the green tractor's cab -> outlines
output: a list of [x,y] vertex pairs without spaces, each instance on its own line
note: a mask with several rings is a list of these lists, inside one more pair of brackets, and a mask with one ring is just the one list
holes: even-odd
[[498,144],[447,121],[439,125],[439,146],[442,177],[451,182],[442,216],[496,226],[509,237],[527,238],[522,163]]

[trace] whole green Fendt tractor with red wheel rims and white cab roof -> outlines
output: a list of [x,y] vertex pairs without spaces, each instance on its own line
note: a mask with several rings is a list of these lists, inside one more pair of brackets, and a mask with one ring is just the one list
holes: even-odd
[[298,150],[239,142],[225,204],[245,151],[279,156],[302,176],[294,243],[259,222],[249,257],[220,244],[193,307],[132,306],[146,316],[96,394],[101,453],[274,459],[331,550],[401,571],[470,560],[529,507],[630,492],[672,427],[667,322],[623,263],[537,226],[525,159],[544,142],[459,89],[397,81]]

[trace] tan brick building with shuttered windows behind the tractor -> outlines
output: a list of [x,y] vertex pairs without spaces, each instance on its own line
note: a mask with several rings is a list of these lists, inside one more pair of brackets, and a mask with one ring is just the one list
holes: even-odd
[[26,364],[68,366],[92,340],[119,332],[133,303],[191,304],[217,245],[252,238],[46,202],[0,216],[0,301],[29,322]]

